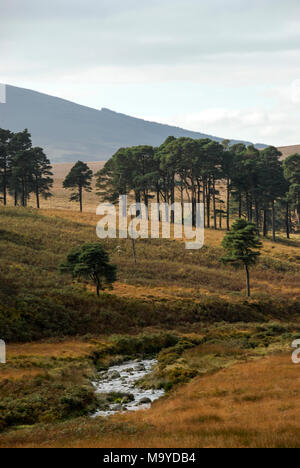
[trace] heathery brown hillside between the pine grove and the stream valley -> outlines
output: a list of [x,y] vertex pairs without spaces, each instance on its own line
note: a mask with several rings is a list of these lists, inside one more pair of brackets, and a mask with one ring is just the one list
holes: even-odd
[[296,238],[276,245],[265,242],[248,302],[244,272],[219,262],[222,232],[207,231],[205,247],[192,253],[174,240],[139,240],[136,266],[129,240],[106,240],[118,266],[118,282],[98,300],[91,285],[58,272],[72,246],[96,240],[96,216],[78,215],[76,221],[73,212],[1,208],[0,217],[0,323],[2,337],[9,341],[174,323],[265,320],[299,312]]

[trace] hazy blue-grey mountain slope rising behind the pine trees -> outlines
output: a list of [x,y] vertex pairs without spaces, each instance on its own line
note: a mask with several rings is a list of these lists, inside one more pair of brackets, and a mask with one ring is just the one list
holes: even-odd
[[170,135],[223,140],[15,86],[6,85],[6,102],[1,103],[3,100],[2,97],[0,128],[15,132],[27,128],[34,146],[43,147],[51,161],[57,163],[106,160],[120,147],[159,146]]

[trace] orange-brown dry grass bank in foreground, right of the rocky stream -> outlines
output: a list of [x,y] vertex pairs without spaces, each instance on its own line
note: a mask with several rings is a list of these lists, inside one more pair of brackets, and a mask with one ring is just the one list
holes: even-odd
[[[299,447],[299,367],[290,355],[196,378],[149,411],[2,434],[2,447]],[[79,435],[80,434],[80,435]]]

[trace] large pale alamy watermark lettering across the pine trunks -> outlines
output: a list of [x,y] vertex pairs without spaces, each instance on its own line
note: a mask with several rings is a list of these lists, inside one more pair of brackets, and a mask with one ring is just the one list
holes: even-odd
[[[96,214],[102,216],[96,232],[100,239],[182,239],[189,250],[204,245],[203,203],[132,203],[127,195],[119,197],[119,209],[100,203]],[[118,230],[117,230],[118,228]]]

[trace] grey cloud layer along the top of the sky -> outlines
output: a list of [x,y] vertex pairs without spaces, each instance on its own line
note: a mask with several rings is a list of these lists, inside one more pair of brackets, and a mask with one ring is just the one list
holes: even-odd
[[297,18],[298,0],[4,0],[0,64],[70,70],[299,51]]

